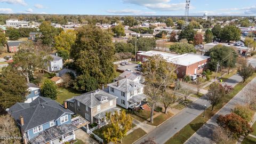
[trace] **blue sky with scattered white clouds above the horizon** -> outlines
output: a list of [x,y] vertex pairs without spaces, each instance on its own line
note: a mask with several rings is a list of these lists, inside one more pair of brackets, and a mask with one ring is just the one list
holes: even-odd
[[[191,0],[189,15],[256,15],[255,0]],[[0,0],[0,13],[183,15],[185,0]]]

